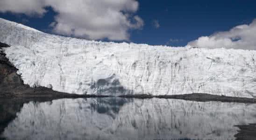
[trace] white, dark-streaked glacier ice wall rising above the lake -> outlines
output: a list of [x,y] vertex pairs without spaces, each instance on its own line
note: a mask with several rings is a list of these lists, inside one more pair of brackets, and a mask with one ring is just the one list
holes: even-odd
[[256,51],[96,42],[0,19],[0,42],[25,84],[77,94],[256,96]]

